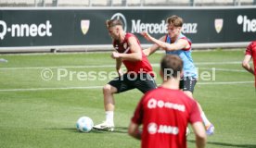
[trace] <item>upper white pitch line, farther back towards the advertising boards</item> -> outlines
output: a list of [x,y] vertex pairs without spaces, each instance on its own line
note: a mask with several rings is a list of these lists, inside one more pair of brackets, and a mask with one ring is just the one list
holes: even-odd
[[[198,65],[233,65],[241,64],[240,61],[234,62],[198,62]],[[160,67],[160,64],[151,64],[152,67]],[[0,70],[19,70],[19,69],[41,69],[41,68],[115,68],[115,65],[101,65],[101,66],[59,66],[59,67],[23,67],[23,68],[0,68]]]

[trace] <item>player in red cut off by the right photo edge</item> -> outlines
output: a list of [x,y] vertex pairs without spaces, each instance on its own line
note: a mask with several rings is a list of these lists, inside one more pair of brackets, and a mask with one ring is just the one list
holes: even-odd
[[[250,59],[253,59],[254,69],[250,67]],[[248,70],[251,74],[254,75],[255,79],[255,88],[256,88],[256,41],[251,42],[246,49],[245,57],[242,63],[243,68]]]

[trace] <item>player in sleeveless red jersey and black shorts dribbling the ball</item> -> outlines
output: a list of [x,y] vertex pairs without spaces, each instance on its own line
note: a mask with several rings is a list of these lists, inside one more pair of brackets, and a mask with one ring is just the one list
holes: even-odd
[[[106,120],[96,125],[95,129],[114,129],[114,93],[122,93],[134,88],[142,93],[156,89],[153,79],[154,74],[147,56],[144,55],[138,39],[134,34],[126,33],[122,29],[122,21],[119,19],[107,20],[109,35],[113,39],[116,49],[111,57],[116,59],[116,70],[119,77],[109,81],[103,88]],[[122,74],[122,63],[127,72]]]

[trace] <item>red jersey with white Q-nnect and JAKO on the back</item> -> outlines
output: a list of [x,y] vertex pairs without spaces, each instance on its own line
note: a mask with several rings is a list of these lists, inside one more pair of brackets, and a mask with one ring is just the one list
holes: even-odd
[[180,90],[159,87],[143,96],[132,121],[143,124],[142,148],[186,148],[187,123],[202,120],[195,100]]

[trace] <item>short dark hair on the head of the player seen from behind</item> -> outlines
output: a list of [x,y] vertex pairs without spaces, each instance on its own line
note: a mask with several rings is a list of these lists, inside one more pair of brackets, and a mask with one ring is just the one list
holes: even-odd
[[183,69],[183,61],[179,56],[166,55],[160,61],[160,70],[164,79],[177,78]]

